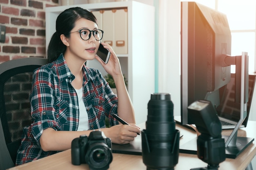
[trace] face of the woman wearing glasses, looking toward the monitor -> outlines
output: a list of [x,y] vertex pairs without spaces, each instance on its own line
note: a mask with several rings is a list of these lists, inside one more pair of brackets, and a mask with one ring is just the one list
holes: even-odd
[[[74,28],[70,31],[70,37],[68,38],[68,45],[65,55],[68,57],[75,57],[83,60],[92,60],[95,58],[97,50],[99,48],[100,41],[97,41],[93,33],[88,40],[83,40],[80,37],[79,30],[86,28],[90,31],[97,30],[98,26],[95,22],[81,18],[75,22]],[[75,32],[76,31],[76,32]],[[72,33],[74,32],[74,33]]]

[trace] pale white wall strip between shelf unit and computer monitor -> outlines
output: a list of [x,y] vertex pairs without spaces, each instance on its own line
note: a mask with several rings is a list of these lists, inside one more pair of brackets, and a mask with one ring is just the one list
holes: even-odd
[[159,0],[159,92],[171,94],[180,115],[180,0]]

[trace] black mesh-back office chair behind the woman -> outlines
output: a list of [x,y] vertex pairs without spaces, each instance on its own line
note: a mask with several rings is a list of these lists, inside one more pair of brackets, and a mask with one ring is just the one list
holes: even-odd
[[15,166],[22,129],[32,123],[32,74],[46,63],[47,59],[30,57],[0,64],[0,170]]

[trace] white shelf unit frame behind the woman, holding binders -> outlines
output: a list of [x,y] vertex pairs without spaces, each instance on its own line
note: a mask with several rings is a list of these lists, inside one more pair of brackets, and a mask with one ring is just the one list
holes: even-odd
[[[134,105],[136,123],[145,122],[150,94],[155,91],[155,7],[136,1],[47,7],[45,10],[46,47],[56,31],[58,15],[67,8],[77,6],[89,11],[127,8],[128,54],[117,56],[122,72],[128,80],[128,92]],[[105,70],[96,60],[88,63],[90,67],[97,68],[106,75]]]

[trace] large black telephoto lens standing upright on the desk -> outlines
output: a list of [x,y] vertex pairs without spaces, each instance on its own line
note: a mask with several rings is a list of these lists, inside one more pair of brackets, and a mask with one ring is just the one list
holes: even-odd
[[171,94],[151,94],[146,129],[141,131],[142,158],[147,170],[174,170],[179,157],[179,136]]

